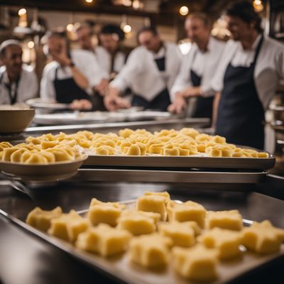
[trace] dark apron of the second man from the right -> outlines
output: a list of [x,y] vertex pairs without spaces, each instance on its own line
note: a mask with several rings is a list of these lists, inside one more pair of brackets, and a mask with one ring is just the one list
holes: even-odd
[[[197,50],[193,56],[192,65],[195,60],[196,53]],[[190,79],[194,87],[200,86],[202,78],[192,69],[190,69]],[[212,119],[213,100],[214,97],[197,97],[192,117],[208,117],[209,119]]]

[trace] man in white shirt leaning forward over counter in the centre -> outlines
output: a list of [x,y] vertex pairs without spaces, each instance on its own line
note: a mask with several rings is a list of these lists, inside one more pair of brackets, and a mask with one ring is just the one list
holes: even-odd
[[154,27],[142,28],[137,38],[141,46],[132,50],[126,65],[110,83],[104,104],[109,110],[129,107],[119,95],[130,87],[134,93],[132,106],[166,111],[169,89],[180,70],[180,51],[174,43],[164,43]]

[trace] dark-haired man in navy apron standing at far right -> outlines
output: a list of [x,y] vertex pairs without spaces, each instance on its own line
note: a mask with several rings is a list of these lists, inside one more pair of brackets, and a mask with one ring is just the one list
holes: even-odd
[[212,81],[216,133],[229,143],[263,149],[265,110],[284,78],[284,48],[263,35],[261,17],[247,1],[231,4],[225,20],[232,40]]

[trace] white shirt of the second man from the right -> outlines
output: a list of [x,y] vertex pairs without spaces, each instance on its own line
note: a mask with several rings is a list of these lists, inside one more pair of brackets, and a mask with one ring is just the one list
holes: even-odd
[[222,58],[225,43],[210,36],[207,45],[207,51],[200,50],[196,43],[192,43],[192,48],[187,55],[184,55],[182,66],[178,77],[170,90],[170,97],[173,101],[175,93],[180,92],[187,87],[192,87],[190,79],[190,70],[193,70],[201,77],[200,87],[202,90],[202,97],[214,96],[212,90],[212,77],[216,72],[219,60]]

